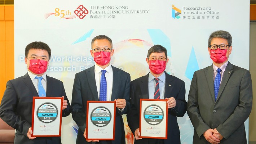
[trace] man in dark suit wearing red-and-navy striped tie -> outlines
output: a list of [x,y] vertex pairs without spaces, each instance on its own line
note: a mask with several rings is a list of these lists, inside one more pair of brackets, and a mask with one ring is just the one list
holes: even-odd
[[[164,71],[168,60],[167,50],[161,45],[154,45],[146,58],[150,72],[131,82],[131,109],[127,121],[136,139],[134,144],[180,144],[177,117],[184,116],[187,110],[185,83]],[[140,138],[140,99],[168,99],[167,139]]]

